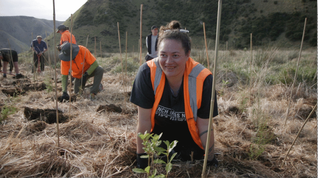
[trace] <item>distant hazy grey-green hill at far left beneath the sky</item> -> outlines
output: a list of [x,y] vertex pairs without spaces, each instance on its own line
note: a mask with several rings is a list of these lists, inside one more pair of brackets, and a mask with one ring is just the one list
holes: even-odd
[[[31,40],[40,35],[43,38],[53,32],[53,21],[29,16],[0,16],[0,49],[9,48],[18,53],[29,50]],[[56,21],[57,24],[63,22]],[[9,43],[8,43],[9,39]]]

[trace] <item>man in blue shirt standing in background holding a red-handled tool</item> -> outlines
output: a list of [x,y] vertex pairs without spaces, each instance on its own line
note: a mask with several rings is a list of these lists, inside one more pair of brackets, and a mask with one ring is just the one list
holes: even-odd
[[41,71],[44,71],[44,52],[47,51],[47,46],[46,43],[44,41],[42,41],[42,36],[37,36],[37,39],[33,40],[31,43],[31,49],[34,51],[33,53],[33,61],[34,61],[34,65],[32,67],[32,73],[34,71],[34,67],[35,69],[38,67],[38,59],[40,62],[40,69]]

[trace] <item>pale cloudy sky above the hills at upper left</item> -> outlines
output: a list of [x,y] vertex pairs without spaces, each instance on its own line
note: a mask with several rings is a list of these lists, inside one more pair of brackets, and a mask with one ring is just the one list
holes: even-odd
[[[55,20],[66,21],[86,2],[87,0],[54,0]],[[0,16],[31,16],[53,20],[53,0],[0,0]]]

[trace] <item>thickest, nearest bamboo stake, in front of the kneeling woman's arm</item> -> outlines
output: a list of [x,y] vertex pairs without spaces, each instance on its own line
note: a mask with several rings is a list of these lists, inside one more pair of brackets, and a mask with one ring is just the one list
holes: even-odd
[[218,64],[218,45],[219,45],[219,36],[220,36],[220,19],[221,19],[221,9],[222,9],[222,0],[218,1],[218,21],[217,21],[217,31],[216,31],[216,40],[215,40],[215,55],[214,55],[214,69],[213,69],[213,82],[212,82],[212,97],[211,97],[211,107],[210,107],[210,118],[209,118],[209,127],[208,127],[208,136],[206,139],[205,146],[205,155],[204,155],[204,163],[202,169],[202,177],[205,177],[205,169],[206,163],[208,160],[209,146],[210,146],[210,135],[211,129],[213,129],[213,110],[214,110],[214,100],[215,100],[215,79],[216,77],[216,69]]

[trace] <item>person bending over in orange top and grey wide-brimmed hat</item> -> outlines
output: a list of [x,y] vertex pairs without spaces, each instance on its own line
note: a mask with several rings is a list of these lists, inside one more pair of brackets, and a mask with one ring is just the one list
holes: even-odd
[[[71,43],[61,45],[59,53],[61,59],[62,90],[61,100],[69,100],[67,94],[68,71],[71,68]],[[87,48],[81,45],[72,44],[72,76],[74,80],[74,93],[84,90],[87,79],[94,77],[93,86],[90,89],[90,99],[94,100],[100,91],[100,82],[103,78],[104,69],[98,65],[96,58]]]

